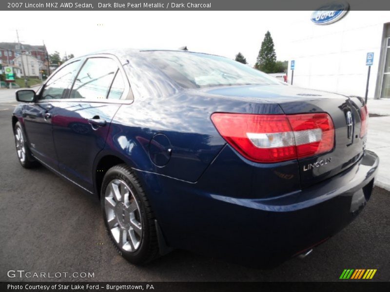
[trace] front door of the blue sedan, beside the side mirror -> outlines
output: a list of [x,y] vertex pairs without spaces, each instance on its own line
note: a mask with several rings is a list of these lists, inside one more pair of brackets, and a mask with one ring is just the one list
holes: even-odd
[[37,92],[37,102],[27,104],[23,110],[25,132],[32,154],[55,170],[58,170],[58,160],[52,133],[53,103],[69,92],[80,63],[80,60],[75,60],[60,68]]

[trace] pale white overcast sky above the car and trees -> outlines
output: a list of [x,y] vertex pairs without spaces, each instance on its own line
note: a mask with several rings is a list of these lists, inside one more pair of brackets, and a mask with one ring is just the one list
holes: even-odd
[[[82,55],[109,48],[177,49],[223,55],[241,52],[253,65],[270,30],[278,60],[288,58],[286,26],[310,11],[9,11],[0,41],[40,45],[50,53]],[[4,29],[5,24],[5,29]],[[7,24],[10,24],[7,26]],[[100,25],[98,25],[100,24]]]

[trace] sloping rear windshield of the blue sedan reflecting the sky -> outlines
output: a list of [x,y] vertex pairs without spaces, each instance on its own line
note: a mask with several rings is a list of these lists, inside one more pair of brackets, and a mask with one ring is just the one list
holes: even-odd
[[175,51],[142,54],[183,88],[279,84],[273,77],[225,57]]

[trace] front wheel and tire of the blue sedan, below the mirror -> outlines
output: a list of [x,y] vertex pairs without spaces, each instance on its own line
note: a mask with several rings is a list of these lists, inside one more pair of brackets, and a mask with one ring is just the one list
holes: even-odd
[[14,127],[15,147],[18,155],[20,165],[24,168],[34,168],[39,165],[37,161],[33,159],[30,148],[27,145],[26,136],[24,135],[23,128],[20,122],[17,122]]

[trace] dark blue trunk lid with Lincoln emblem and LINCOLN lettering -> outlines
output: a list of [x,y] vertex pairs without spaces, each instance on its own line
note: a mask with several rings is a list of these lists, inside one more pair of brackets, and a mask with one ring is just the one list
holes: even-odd
[[360,137],[360,111],[364,106],[361,98],[283,85],[224,87],[209,89],[208,93],[271,101],[285,114],[325,112],[331,116],[333,150],[298,159],[302,188],[348,169],[363,155],[367,135]]

